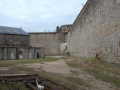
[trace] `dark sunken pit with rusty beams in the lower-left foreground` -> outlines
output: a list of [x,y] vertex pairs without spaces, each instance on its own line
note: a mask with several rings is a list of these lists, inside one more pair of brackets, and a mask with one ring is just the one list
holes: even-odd
[[[11,83],[22,83],[29,90],[37,90],[36,78],[37,74],[34,75],[13,75],[13,76],[0,76],[0,83],[4,84],[6,88],[9,89],[8,85]],[[49,79],[39,79],[38,83],[44,86],[43,90],[71,90],[70,88],[63,86],[57,82],[51,81]]]

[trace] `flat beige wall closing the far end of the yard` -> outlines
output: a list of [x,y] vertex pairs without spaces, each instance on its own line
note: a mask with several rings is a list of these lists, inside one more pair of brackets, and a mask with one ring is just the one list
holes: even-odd
[[33,47],[45,47],[45,55],[60,54],[60,33],[29,33],[30,45]]

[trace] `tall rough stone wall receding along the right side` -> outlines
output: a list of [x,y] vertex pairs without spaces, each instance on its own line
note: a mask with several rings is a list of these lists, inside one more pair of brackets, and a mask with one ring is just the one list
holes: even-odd
[[120,64],[120,0],[88,0],[67,37],[68,51],[77,57],[96,53]]

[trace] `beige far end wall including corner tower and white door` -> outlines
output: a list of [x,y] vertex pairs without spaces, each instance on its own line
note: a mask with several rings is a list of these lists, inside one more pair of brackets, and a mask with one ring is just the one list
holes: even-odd
[[64,53],[68,28],[71,25],[56,27],[56,32],[30,32],[30,45],[44,47],[45,55],[59,55]]

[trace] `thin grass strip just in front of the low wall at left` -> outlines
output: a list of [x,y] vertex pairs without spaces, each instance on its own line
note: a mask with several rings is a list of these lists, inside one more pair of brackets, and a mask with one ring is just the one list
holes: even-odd
[[58,58],[39,58],[39,59],[23,59],[23,60],[4,60],[0,61],[0,66],[13,66],[18,64],[42,63],[59,60]]

